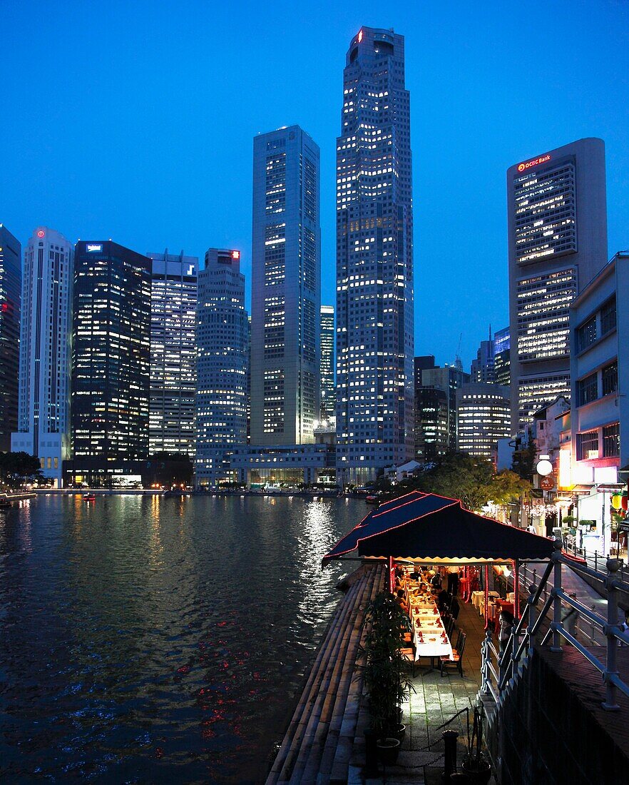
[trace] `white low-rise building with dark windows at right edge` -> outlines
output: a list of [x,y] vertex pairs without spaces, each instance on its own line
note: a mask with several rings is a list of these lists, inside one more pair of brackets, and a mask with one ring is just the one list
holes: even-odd
[[562,484],[589,490],[579,498],[579,518],[595,522],[598,550],[604,553],[609,551],[606,502],[614,487],[620,489],[620,469],[629,464],[629,400],[622,394],[629,388],[627,291],[629,252],[622,252],[570,305],[572,461]]

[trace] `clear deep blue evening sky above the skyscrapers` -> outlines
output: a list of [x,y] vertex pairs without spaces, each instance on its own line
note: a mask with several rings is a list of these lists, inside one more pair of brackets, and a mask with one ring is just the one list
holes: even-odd
[[506,170],[606,145],[609,257],[629,248],[629,0],[0,0],[0,223],[203,257],[242,250],[253,137],[321,148],[322,303],[335,300],[335,145],[362,25],[405,36],[415,353],[464,367],[508,324]]

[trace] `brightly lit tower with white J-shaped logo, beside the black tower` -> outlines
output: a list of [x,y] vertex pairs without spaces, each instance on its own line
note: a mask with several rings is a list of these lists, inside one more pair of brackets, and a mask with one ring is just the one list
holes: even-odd
[[195,457],[198,258],[147,254],[151,273],[149,451]]

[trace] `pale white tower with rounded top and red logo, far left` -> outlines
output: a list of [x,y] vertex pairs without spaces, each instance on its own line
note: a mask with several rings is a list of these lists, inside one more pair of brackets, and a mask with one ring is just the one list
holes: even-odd
[[55,487],[69,457],[73,256],[64,235],[46,226],[35,229],[24,250],[20,398],[11,449],[37,456]]

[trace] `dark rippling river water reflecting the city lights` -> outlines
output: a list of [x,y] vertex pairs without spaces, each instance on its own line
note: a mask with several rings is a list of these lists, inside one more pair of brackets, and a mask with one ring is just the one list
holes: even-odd
[[40,496],[0,512],[0,780],[259,783],[353,499]]

